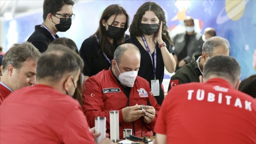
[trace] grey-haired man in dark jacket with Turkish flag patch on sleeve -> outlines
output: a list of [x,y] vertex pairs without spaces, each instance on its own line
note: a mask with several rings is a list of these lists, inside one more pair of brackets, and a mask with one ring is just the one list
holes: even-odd
[[208,59],[216,55],[229,56],[229,41],[222,37],[211,37],[203,43],[202,52],[194,53],[191,63],[184,65],[171,77],[168,91],[179,84],[199,82],[199,76],[203,75],[203,68]]

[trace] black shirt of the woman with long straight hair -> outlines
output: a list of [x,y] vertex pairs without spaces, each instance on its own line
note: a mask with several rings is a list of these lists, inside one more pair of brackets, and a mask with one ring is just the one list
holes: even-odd
[[[80,48],[80,56],[84,60],[83,73],[86,76],[98,74],[103,69],[109,69],[111,64],[104,57],[99,43],[95,37],[85,39]],[[111,61],[113,58],[108,57]]]

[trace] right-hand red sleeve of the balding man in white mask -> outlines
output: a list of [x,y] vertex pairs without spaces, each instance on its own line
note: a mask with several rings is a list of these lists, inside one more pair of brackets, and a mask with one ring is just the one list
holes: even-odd
[[157,103],[155,97],[153,96],[153,93],[151,92],[151,89],[149,87],[149,102],[150,102],[150,106],[155,108],[155,117],[153,118],[153,120],[150,123],[145,123],[146,128],[148,128],[149,130],[153,130],[155,127],[155,122],[156,119],[158,117],[158,112],[160,111],[160,105]]

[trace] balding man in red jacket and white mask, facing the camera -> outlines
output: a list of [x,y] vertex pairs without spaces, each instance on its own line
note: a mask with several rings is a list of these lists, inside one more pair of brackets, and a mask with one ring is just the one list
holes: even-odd
[[[83,85],[85,115],[90,127],[95,117],[107,117],[107,133],[110,133],[109,112],[119,111],[119,137],[123,129],[133,129],[137,137],[152,136],[160,105],[155,100],[147,80],[137,76],[140,66],[139,49],[130,43],[120,45],[108,70],[90,77]],[[145,110],[138,109],[145,105]]]

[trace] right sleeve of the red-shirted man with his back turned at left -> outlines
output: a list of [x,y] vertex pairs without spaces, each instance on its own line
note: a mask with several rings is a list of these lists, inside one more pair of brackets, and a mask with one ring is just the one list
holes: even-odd
[[64,144],[95,144],[94,136],[89,130],[81,108],[69,113],[60,137]]

